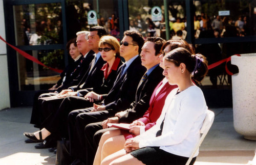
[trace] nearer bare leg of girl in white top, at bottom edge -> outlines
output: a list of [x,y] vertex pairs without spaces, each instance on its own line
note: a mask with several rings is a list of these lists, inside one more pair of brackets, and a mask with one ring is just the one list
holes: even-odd
[[130,164],[136,164],[136,165],[142,165],[140,160],[137,158],[133,157],[131,154],[124,155],[122,157],[119,157],[112,161],[110,165],[117,165],[117,164],[122,164],[122,165],[130,165]]

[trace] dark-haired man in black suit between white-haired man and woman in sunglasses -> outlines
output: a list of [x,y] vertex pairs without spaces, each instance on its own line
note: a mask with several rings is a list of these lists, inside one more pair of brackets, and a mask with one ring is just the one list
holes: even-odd
[[[42,123],[41,127],[48,128],[47,131],[42,131],[43,136],[49,135],[50,132],[56,132],[54,128],[59,128],[58,127],[59,123],[64,124],[62,129],[63,131],[61,131],[61,133],[66,133],[67,131],[65,130],[67,129],[65,128],[67,127],[65,127],[65,125],[67,125],[67,122],[65,121],[67,121],[66,119],[69,112],[72,111],[73,108],[76,109],[76,106],[77,108],[87,107],[85,105],[82,106],[83,104],[81,103],[77,103],[77,101],[80,101],[81,99],[81,97],[79,97],[78,90],[81,90],[81,89],[93,90],[93,88],[99,88],[102,85],[102,80],[104,75],[103,75],[103,72],[101,71],[101,68],[105,62],[101,58],[100,52],[98,50],[98,42],[100,37],[103,35],[106,35],[106,31],[103,27],[94,26],[90,28],[90,34],[88,36],[88,43],[89,43],[88,45],[89,45],[89,48],[91,48],[91,50],[96,52],[96,55],[94,60],[91,62],[88,71],[86,72],[86,74],[84,74],[79,84],[77,86],[69,87],[69,89],[67,90],[63,90],[58,95],[58,98],[50,98],[50,99],[41,98],[44,100],[41,103],[42,112],[44,112],[45,116],[47,117],[46,120],[44,120],[44,122]],[[84,98],[83,98],[83,101],[84,101]],[[62,102],[69,102],[72,106],[66,106],[67,104],[65,104],[65,106],[61,106]],[[83,103],[90,103],[90,102],[84,101]],[[60,120],[64,120],[64,121],[60,122]],[[53,128],[53,129],[50,129],[50,128]],[[47,133],[44,135],[45,132]],[[55,133],[54,136],[59,137],[59,134],[56,135]],[[51,139],[51,141],[53,140]],[[49,145],[48,144],[47,145],[39,144],[39,145],[36,145],[35,147],[48,148],[52,146],[51,144]]]

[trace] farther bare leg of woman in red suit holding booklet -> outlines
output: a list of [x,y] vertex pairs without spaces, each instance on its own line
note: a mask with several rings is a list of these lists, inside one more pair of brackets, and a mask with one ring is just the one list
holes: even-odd
[[101,139],[99,141],[99,146],[94,158],[93,165],[99,165],[101,161],[101,150],[102,146],[105,143],[106,140],[108,140],[110,137],[120,135],[121,132],[119,129],[111,130],[111,131],[106,131],[105,133],[102,134]]

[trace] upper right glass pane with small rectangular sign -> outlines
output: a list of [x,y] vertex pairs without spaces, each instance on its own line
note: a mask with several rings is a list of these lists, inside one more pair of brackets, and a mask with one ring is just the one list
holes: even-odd
[[255,35],[255,1],[199,0],[194,5],[196,38]]

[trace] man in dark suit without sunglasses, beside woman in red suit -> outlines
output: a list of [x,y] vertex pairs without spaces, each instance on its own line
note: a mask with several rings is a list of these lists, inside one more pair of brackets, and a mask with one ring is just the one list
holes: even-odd
[[[118,123],[120,121],[131,123],[133,120],[143,116],[150,106],[150,99],[155,87],[163,79],[163,69],[159,66],[161,47],[164,40],[160,37],[149,37],[146,39],[141,55],[142,65],[147,71],[142,77],[135,97],[135,101],[125,111],[115,114],[115,117],[103,122],[91,123],[84,129],[86,136],[86,158],[87,164],[92,164],[98,147],[98,142],[102,133],[108,128],[108,123]],[[99,131],[100,130],[100,131]]]

